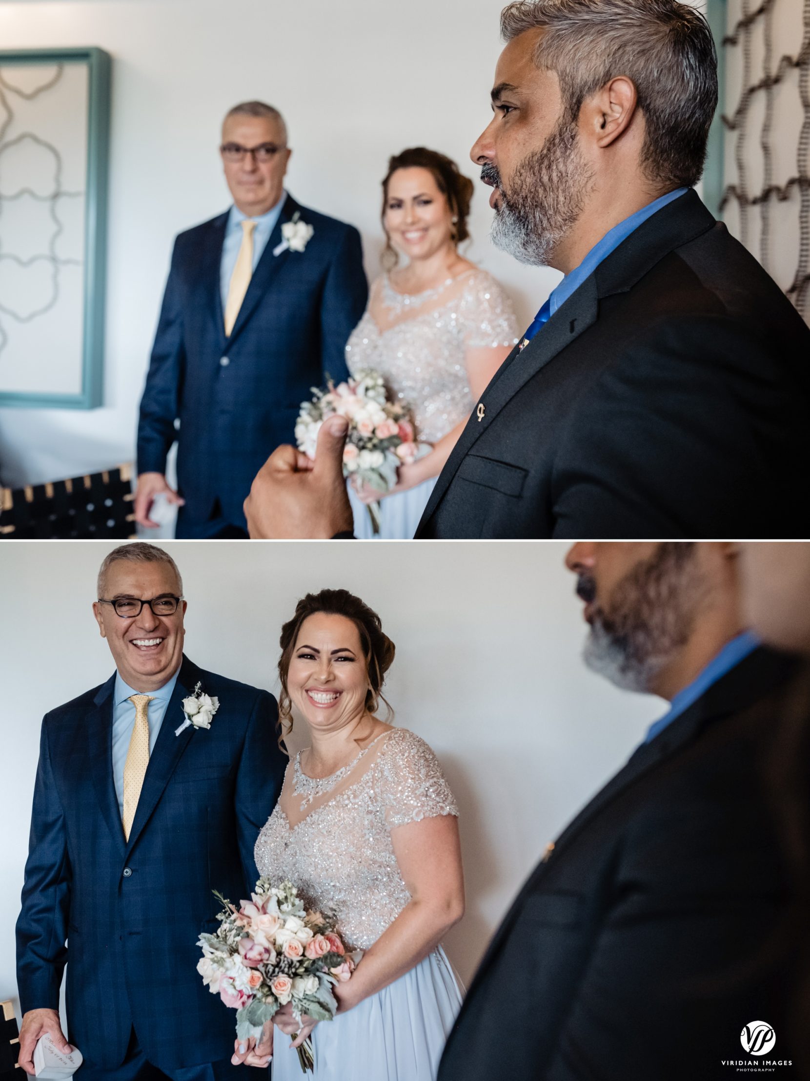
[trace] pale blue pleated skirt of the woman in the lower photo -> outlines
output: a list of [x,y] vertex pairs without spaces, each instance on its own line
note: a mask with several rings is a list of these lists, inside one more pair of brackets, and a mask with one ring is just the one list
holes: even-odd
[[273,1081],[434,1081],[461,1001],[439,947],[354,1010],[316,1025],[314,1075],[302,1073],[291,1038],[276,1029]]

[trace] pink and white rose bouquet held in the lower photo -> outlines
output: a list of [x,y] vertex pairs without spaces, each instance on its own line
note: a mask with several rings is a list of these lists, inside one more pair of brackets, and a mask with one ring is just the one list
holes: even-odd
[[[291,882],[271,886],[261,878],[250,900],[237,909],[222,894],[215,934],[197,943],[202,958],[197,971],[212,995],[237,1010],[237,1037],[256,1042],[262,1028],[281,1006],[292,1002],[293,1016],[332,1020],[337,1001],[332,987],[349,978],[354,958],[320,912],[307,912]],[[306,1073],[314,1066],[313,1044],[297,1049]]]

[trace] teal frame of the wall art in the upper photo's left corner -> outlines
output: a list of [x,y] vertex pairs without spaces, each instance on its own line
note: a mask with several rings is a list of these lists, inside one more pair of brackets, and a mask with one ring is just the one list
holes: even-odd
[[84,64],[88,67],[88,161],[84,197],[83,338],[78,393],[0,391],[0,406],[97,409],[104,398],[104,333],[107,282],[107,198],[109,179],[109,53],[78,49],[0,50],[0,67],[31,64]]

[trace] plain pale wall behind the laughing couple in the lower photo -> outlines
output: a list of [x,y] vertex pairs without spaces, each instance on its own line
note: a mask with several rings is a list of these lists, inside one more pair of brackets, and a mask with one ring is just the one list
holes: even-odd
[[[0,553],[0,1000],[16,995],[41,717],[112,670],[90,608],[110,547],[18,542]],[[468,904],[448,949],[468,980],[546,842],[663,712],[660,699],[620,692],[582,665],[566,546],[165,547],[189,602],[188,655],[254,685],[276,689],[280,626],[307,590],[346,587],[380,612],[397,645],[386,692],[397,723],[434,747],[461,805]]]

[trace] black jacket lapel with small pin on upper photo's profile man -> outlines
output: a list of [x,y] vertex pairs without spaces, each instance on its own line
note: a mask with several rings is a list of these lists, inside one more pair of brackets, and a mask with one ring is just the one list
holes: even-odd
[[[464,431],[453,448],[444,468],[439,473],[422,522],[427,522],[450,486],[462,461],[476,441],[487,431],[504,405],[542,368],[554,360],[558,352],[561,352],[566,346],[592,326],[596,322],[597,312],[596,281],[592,275],[558,308],[522,352],[517,346],[513,349],[481,395],[478,405],[474,406]],[[483,406],[483,418],[479,421],[478,412],[481,405]]]

